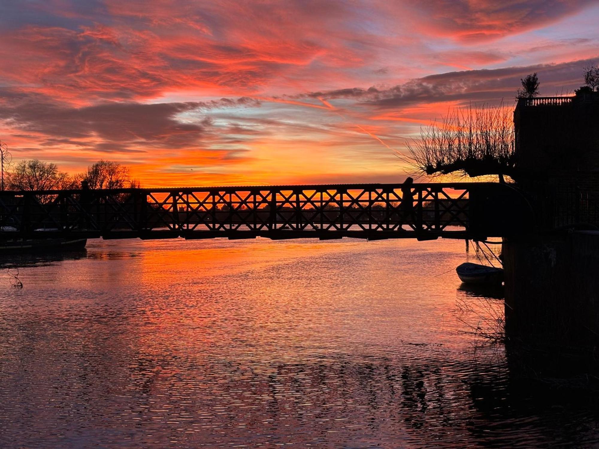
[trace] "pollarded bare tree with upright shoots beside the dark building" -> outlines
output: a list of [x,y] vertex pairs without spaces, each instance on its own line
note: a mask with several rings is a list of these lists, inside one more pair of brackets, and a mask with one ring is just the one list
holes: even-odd
[[482,105],[455,109],[408,144],[416,174],[513,177],[515,139],[512,109]]

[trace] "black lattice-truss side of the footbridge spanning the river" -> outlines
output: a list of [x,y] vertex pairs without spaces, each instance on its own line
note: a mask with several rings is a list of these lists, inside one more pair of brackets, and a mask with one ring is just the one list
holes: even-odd
[[0,192],[7,236],[263,235],[422,238],[462,235],[474,184],[311,186]]

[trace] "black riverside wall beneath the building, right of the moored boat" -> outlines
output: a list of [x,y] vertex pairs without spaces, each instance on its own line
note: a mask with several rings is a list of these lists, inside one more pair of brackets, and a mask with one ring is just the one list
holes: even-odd
[[534,375],[598,372],[599,232],[503,243],[508,347]]

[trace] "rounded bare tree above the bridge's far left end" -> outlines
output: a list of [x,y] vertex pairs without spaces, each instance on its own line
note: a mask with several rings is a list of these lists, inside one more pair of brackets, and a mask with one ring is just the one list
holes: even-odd
[[69,189],[71,186],[68,173],[59,171],[55,163],[39,159],[20,161],[8,178],[11,190],[55,190]]

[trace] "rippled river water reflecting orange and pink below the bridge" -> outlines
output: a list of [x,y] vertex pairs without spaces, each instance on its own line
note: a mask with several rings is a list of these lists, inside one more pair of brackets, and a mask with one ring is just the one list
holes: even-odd
[[0,275],[0,447],[599,447],[464,333],[464,242],[90,241]]

